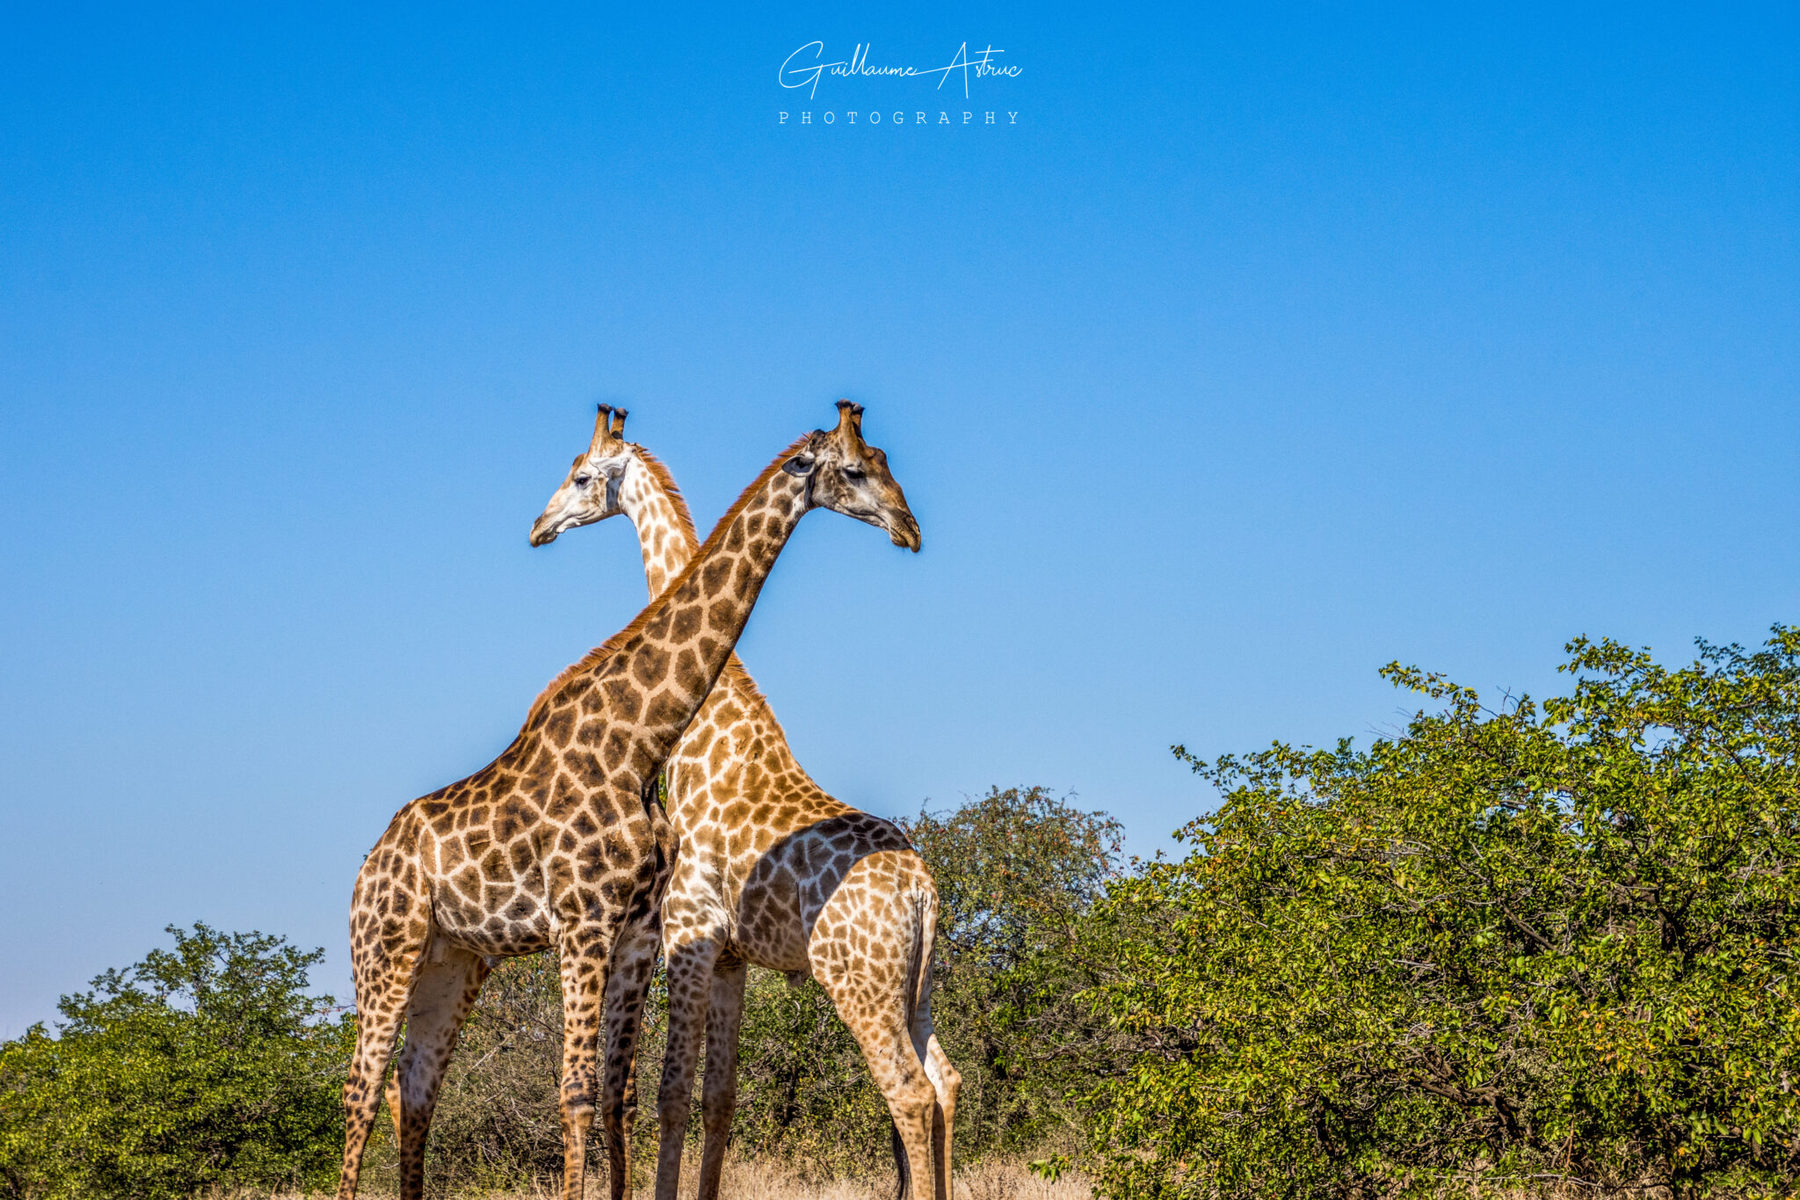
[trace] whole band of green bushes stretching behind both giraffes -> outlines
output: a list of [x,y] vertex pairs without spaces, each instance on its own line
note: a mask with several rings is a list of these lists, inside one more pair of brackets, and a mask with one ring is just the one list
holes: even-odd
[[[902,820],[943,900],[938,1034],[961,1160],[1105,1196],[1787,1195],[1800,1178],[1800,630],[1685,667],[1577,639],[1566,696],[1431,705],[1355,748],[1202,761],[1181,858],[1044,788]],[[320,952],[173,950],[0,1043],[0,1196],[329,1189],[353,1015]],[[666,1031],[646,1013],[639,1094]],[[554,961],[470,1016],[427,1157],[443,1193],[560,1169]],[[698,1124],[695,1124],[698,1128]],[[815,982],[752,972],[742,1153],[882,1171],[887,1114]],[[653,1160],[641,1106],[639,1169]],[[380,1187],[391,1142],[371,1155]]]

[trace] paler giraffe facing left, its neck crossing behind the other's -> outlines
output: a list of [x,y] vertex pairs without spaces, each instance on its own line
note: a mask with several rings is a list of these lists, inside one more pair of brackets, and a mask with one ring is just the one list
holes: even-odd
[[[860,407],[841,426],[860,439]],[[637,527],[650,594],[679,578],[698,545],[668,468],[623,437],[625,414],[587,453],[533,525],[535,545],[625,513]],[[592,459],[625,459],[599,486]],[[869,450],[868,470],[882,470]],[[745,964],[797,982],[812,973],[850,1025],[895,1119],[900,1195],[936,1159],[932,1193],[949,1200],[950,1133],[961,1076],[931,1025],[938,892],[891,822],[828,795],[796,761],[781,723],[736,655],[666,766],[679,851],[662,901],[670,1034],[657,1096],[657,1200],[680,1177],[695,1060],[707,1045],[700,1200],[715,1200],[736,1105]],[[646,968],[648,970],[648,968]],[[634,986],[643,986],[641,982]],[[608,1022],[610,1025],[610,1022]]]

